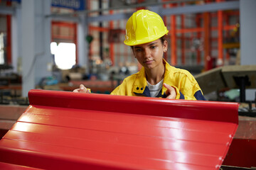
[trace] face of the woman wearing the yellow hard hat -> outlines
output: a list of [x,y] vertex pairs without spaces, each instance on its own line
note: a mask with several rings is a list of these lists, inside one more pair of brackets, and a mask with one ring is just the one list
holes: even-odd
[[167,50],[167,42],[160,39],[142,45],[135,45],[133,48],[134,56],[138,62],[146,69],[153,69],[162,62],[163,53]]

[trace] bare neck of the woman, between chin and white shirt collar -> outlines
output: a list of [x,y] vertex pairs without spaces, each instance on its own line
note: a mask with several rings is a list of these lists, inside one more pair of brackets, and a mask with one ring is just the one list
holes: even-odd
[[164,63],[160,64],[159,67],[155,67],[153,69],[146,69],[146,80],[149,82],[151,85],[155,85],[159,83],[162,79],[164,79]]

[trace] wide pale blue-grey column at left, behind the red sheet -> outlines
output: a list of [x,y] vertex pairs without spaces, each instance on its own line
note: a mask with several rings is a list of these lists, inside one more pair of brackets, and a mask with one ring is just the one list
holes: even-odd
[[21,1],[22,96],[35,89],[50,70],[50,0]]

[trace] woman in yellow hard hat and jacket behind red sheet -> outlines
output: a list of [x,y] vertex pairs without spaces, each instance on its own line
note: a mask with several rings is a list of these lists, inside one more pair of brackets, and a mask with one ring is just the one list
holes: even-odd
[[[168,49],[168,32],[157,13],[149,10],[133,13],[127,21],[124,44],[132,47],[142,69],[125,78],[111,94],[205,100],[191,73],[171,67],[164,60],[164,52]],[[90,93],[90,89],[81,84],[80,89],[73,92]]]

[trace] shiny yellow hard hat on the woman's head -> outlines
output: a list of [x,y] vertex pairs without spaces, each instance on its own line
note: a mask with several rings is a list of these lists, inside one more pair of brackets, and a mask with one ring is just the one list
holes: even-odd
[[134,12],[127,21],[124,44],[134,46],[152,42],[168,32],[161,16],[142,9]]

